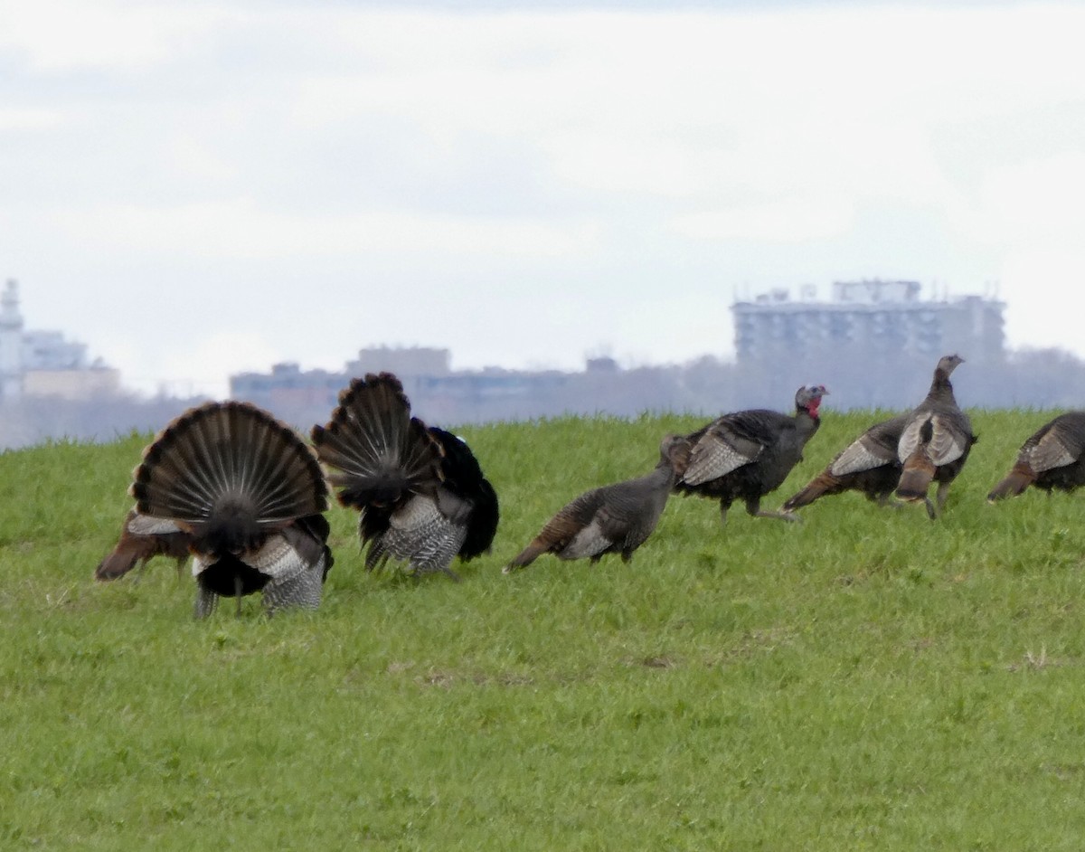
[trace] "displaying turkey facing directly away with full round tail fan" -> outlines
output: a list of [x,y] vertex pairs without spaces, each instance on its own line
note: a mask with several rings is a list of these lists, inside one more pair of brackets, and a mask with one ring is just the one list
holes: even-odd
[[143,452],[136,511],[191,536],[196,618],[220,597],[263,592],[271,613],[315,609],[332,565],[328,484],[289,427],[246,403],[207,403],[170,423]]

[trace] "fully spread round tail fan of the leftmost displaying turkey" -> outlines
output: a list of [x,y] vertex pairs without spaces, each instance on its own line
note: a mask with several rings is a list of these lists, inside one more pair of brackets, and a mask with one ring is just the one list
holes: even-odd
[[290,427],[248,403],[186,411],[143,452],[131,495],[141,514],[189,527],[195,548],[253,546],[267,527],[328,508],[312,450]]

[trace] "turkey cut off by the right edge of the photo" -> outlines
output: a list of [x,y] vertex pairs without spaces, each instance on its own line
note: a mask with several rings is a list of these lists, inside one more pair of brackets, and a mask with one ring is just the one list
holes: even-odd
[[1017,463],[987,499],[1016,497],[1030,485],[1073,491],[1085,485],[1085,411],[1069,411],[1045,423],[1021,446]]

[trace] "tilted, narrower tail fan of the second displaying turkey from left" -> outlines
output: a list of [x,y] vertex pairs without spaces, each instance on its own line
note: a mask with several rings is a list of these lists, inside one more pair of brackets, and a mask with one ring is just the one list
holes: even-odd
[[441,449],[410,416],[410,402],[392,373],[353,379],[331,420],[311,434],[344,506],[395,503],[419,483],[438,479]]

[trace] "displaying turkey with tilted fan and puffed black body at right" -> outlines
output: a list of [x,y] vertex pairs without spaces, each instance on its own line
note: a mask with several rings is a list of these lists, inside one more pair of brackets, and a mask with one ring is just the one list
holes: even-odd
[[412,573],[459,580],[452,557],[467,561],[489,550],[498,523],[494,487],[463,441],[410,416],[395,376],[353,380],[329,423],[312,428],[312,443],[340,503],[361,512],[367,569],[406,560]]

